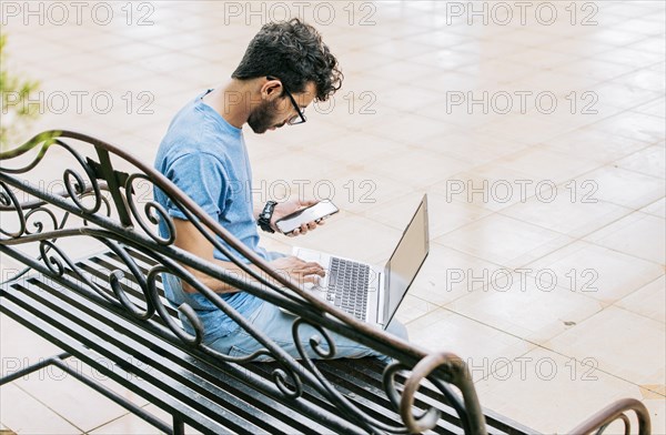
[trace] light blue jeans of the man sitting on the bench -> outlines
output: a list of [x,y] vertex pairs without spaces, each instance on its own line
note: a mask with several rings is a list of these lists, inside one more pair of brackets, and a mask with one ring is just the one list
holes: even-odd
[[[292,325],[294,323],[294,317],[292,314],[287,314],[281,311],[276,305],[273,305],[269,302],[263,302],[261,306],[252,313],[248,320],[252,324],[253,327],[262,331],[266,334],[271,340],[275,342],[280,347],[284,348],[286,353],[289,353],[294,358],[301,358],[301,354],[296,348],[294,343],[294,337],[292,334]],[[316,331],[314,327],[303,324],[299,328],[300,340],[302,343],[302,347],[305,350],[307,357],[316,360],[321,358],[310,345],[310,338],[313,335],[317,335],[321,338],[321,346],[327,352],[329,346],[322,334]],[[343,335],[335,334],[333,332],[326,331],[331,338],[335,344],[335,355],[336,358],[360,358],[363,356],[376,356],[382,361],[390,362],[391,358],[365,346],[360,343],[354,342]],[[407,340],[407,330],[404,325],[397,322],[395,318],[391,322],[386,332],[393,334],[400,338]],[[230,356],[248,356],[252,353],[263,348],[263,345],[259,343],[252,335],[250,335],[245,330],[239,327],[239,330],[232,332],[229,335],[216,338],[211,343],[206,343],[210,347],[215,351],[230,355]],[[262,355],[253,361],[273,361],[272,357]]]

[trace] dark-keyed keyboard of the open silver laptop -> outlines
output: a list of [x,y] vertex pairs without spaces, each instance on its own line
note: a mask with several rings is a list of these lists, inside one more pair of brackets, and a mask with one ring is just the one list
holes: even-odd
[[365,321],[370,266],[349,260],[331,259],[326,297],[336,307]]

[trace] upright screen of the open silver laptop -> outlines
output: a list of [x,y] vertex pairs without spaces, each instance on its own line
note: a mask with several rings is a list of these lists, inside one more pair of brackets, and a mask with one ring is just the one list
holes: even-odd
[[428,249],[427,195],[424,195],[384,270],[389,281],[387,301],[384,304],[384,318],[386,320],[384,327],[393,318],[407,289],[416,277],[427,256]]

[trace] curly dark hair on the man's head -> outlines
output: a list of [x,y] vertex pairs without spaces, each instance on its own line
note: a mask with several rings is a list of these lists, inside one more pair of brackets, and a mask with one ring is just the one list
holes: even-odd
[[326,101],[342,87],[337,59],[312,26],[297,18],[264,24],[245,50],[231,77],[246,80],[274,75],[292,93],[316,85],[317,101]]

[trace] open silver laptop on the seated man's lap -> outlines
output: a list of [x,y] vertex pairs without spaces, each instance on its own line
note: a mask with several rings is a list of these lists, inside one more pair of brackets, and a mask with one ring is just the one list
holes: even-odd
[[293,255],[326,270],[317,284],[306,286],[322,301],[381,328],[386,328],[430,251],[427,195],[383,267],[304,247]]

